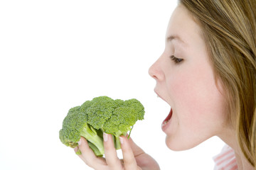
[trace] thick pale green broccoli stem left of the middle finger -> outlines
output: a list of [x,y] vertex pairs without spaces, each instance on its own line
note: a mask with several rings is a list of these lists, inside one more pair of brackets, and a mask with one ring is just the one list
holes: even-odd
[[90,125],[85,125],[85,128],[80,132],[80,135],[82,137],[85,137],[86,140],[89,142],[89,147],[92,149],[93,152],[99,157],[102,157],[104,154],[104,146],[103,146],[103,140],[102,140],[102,134],[98,133],[102,132],[101,130],[95,130]]

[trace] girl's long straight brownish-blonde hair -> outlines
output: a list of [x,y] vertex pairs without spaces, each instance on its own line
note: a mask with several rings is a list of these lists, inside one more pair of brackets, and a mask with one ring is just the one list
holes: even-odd
[[242,152],[256,169],[256,0],[180,0],[198,21]]

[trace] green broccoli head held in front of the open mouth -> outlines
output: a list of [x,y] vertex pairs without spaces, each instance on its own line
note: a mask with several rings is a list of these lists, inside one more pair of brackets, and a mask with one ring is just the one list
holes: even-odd
[[[137,120],[144,119],[144,106],[137,99],[122,101],[107,96],[85,101],[70,108],[59,132],[60,141],[68,147],[77,147],[80,137],[85,137],[96,156],[104,154],[103,132],[112,135],[114,147],[120,149],[119,136],[131,132]],[[77,154],[81,154],[78,150]]]

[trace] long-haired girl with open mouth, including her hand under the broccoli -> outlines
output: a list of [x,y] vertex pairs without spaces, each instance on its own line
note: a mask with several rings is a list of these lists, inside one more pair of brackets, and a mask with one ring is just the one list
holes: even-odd
[[[227,146],[215,169],[256,169],[255,55],[255,0],[179,1],[165,50],[149,69],[154,91],[171,106],[162,124],[170,149],[218,136]],[[104,141],[105,158],[95,157],[84,138],[79,142],[79,157],[93,169],[159,169],[131,139],[120,139],[123,160],[112,137]]]

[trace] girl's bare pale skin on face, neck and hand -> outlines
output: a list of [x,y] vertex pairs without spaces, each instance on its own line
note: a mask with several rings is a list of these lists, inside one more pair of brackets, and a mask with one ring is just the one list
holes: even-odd
[[[201,28],[185,7],[177,6],[172,14],[165,50],[149,74],[156,80],[154,91],[172,109],[171,119],[162,126],[170,149],[190,149],[216,135],[233,147],[239,169],[253,169],[243,157],[235,130],[227,120],[225,93],[221,81],[215,79]],[[112,137],[107,134],[105,158],[95,157],[83,137],[75,151],[79,148],[80,159],[93,169],[159,169],[131,138],[122,137],[121,141],[123,160],[118,159]]]

